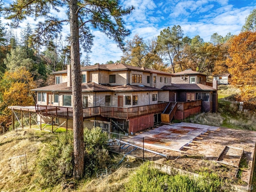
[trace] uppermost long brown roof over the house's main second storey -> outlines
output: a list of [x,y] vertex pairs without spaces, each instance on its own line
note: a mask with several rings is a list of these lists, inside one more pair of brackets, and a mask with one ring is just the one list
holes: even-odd
[[[167,72],[162,72],[162,71],[148,69],[148,68],[142,68],[142,67],[136,67],[136,66],[130,66],[130,65],[122,64],[122,63],[97,64],[97,65],[81,67],[81,71],[97,71],[97,70],[105,70],[105,71],[134,70],[134,71],[140,71],[140,72],[172,75]],[[52,72],[50,74],[63,74],[63,73],[67,73],[67,70]]]

